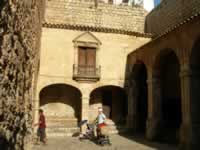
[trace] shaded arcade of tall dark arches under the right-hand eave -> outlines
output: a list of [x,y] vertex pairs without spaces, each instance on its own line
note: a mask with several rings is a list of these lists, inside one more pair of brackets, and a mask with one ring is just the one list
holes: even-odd
[[128,126],[149,140],[184,150],[200,146],[197,27],[183,26],[176,37],[169,33],[128,56]]

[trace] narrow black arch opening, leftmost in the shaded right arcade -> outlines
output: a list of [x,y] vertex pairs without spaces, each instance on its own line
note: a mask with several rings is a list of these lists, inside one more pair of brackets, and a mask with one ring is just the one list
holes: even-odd
[[146,133],[146,122],[148,115],[148,101],[147,101],[147,69],[143,63],[136,63],[133,67],[132,83],[135,84],[133,97],[133,111],[134,111],[134,122],[135,131],[138,134],[145,136]]

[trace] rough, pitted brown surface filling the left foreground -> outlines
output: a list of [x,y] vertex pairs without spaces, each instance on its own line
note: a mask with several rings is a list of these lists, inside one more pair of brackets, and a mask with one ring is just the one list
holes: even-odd
[[44,1],[1,0],[0,149],[28,149]]

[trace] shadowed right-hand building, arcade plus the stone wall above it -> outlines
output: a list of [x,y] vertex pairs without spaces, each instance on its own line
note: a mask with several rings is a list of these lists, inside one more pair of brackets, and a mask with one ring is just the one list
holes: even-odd
[[198,0],[163,0],[146,17],[152,40],[127,59],[129,126],[180,149],[199,149],[199,15]]

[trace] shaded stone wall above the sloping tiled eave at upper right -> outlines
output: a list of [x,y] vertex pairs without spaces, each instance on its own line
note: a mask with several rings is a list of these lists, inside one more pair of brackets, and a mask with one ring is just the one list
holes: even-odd
[[160,35],[199,11],[199,0],[163,0],[147,15],[145,31]]

